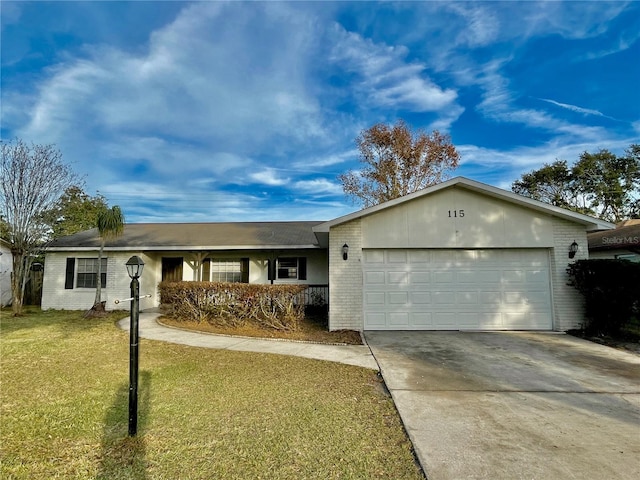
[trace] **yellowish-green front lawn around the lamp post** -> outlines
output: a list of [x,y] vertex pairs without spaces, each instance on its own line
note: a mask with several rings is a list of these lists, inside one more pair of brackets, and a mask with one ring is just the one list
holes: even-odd
[[130,438],[122,313],[0,314],[0,478],[423,478],[371,370],[142,339]]

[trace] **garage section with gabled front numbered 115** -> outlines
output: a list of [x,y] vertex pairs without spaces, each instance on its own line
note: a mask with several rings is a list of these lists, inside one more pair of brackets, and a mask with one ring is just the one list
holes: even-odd
[[329,328],[579,328],[567,266],[612,227],[463,177],[319,224]]

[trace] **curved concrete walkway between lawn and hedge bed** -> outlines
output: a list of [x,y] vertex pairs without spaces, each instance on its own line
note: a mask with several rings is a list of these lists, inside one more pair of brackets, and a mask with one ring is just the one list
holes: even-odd
[[[140,312],[138,328],[141,338],[179,343],[192,347],[291,355],[378,370],[378,363],[373,358],[367,345],[326,345],[191,332],[160,325],[156,321],[159,316],[160,314],[156,312]],[[129,318],[120,320],[118,326],[123,330],[129,330]]]

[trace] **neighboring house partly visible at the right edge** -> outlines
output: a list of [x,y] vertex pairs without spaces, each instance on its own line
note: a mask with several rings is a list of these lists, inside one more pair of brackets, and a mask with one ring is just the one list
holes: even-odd
[[640,262],[640,219],[625,220],[615,230],[588,235],[589,258],[619,258]]

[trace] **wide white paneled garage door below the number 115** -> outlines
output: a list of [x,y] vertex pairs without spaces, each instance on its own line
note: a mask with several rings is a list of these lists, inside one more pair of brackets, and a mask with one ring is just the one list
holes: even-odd
[[550,330],[542,249],[364,250],[367,330]]

